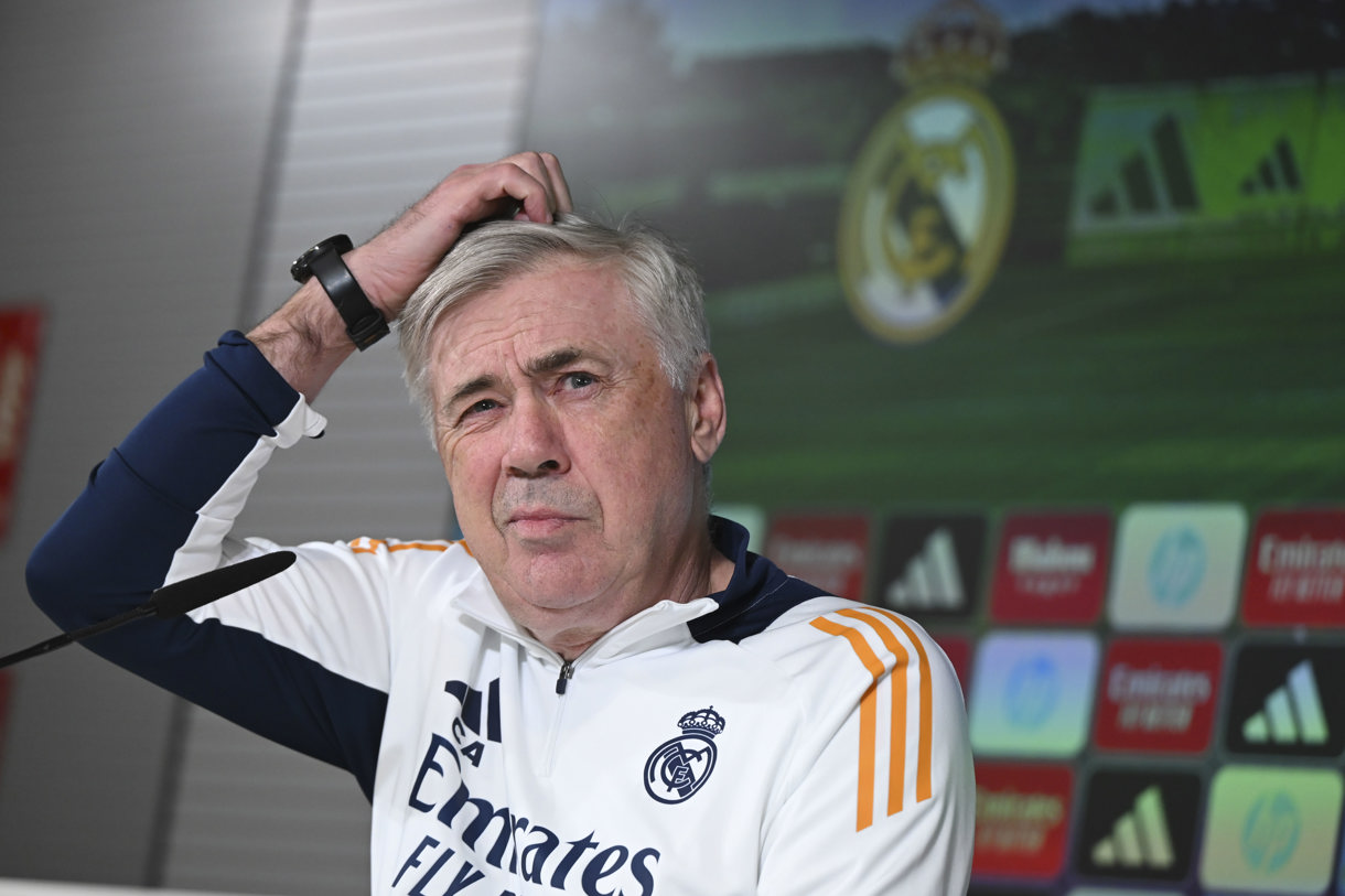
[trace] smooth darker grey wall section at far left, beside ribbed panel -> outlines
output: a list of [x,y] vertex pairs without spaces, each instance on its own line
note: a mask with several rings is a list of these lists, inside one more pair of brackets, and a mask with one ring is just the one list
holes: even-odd
[[[34,544],[237,316],[288,9],[0,3],[0,303],[48,313],[0,651],[54,634]],[[11,671],[0,874],[144,883],[174,700],[78,647]]]

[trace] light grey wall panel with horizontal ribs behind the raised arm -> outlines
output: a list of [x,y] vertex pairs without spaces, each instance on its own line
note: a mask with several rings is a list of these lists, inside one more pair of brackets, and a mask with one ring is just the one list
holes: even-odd
[[[363,241],[452,168],[514,151],[535,31],[531,0],[313,0],[241,326],[292,292],[289,262],[307,246]],[[242,530],[281,542],[448,530],[444,474],[394,343],[328,383],[316,402],[327,436],[268,468]],[[171,831],[171,887],[369,892],[369,806],[354,780],[199,710]]]

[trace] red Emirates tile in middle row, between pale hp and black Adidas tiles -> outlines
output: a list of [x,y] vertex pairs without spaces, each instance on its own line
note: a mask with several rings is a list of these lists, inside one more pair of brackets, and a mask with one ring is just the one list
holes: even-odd
[[1209,747],[1224,648],[1213,639],[1118,639],[1098,686],[1102,749],[1198,753]]

